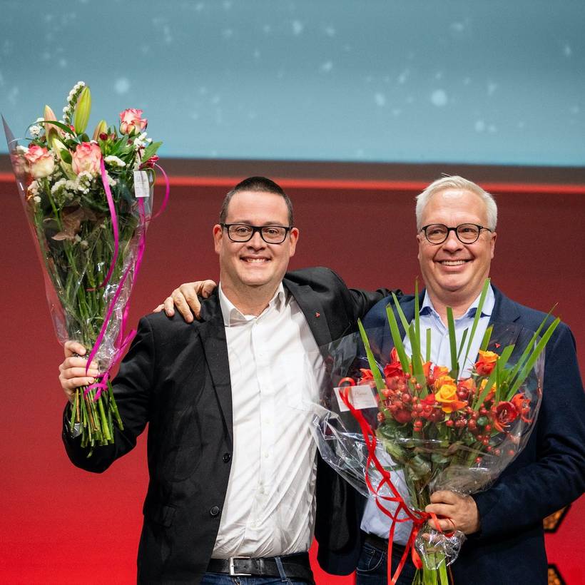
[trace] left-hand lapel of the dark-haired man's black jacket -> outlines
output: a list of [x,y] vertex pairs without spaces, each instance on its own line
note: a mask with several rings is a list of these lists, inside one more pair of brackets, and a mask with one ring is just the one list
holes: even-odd
[[201,305],[202,322],[198,327],[215,394],[223,414],[225,427],[233,444],[232,386],[228,360],[228,342],[217,289]]

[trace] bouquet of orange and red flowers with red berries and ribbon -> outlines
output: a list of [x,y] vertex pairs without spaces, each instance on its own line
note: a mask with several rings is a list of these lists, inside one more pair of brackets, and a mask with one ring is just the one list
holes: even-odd
[[[412,323],[395,296],[394,310],[387,306],[394,342],[389,356],[375,355],[370,338],[379,339],[380,332],[366,332],[361,323],[359,334],[325,350],[335,392],[322,392],[315,407],[320,452],[390,517],[389,546],[398,524],[412,525],[403,560],[412,554],[419,569],[417,585],[447,585],[447,565],[457,558],[464,540],[461,532],[437,529],[432,515],[424,512],[432,492],[472,494],[489,487],[526,444],[540,405],[542,352],[558,319],[546,330],[545,319],[536,332],[524,332],[519,337],[523,347],[518,342],[499,344],[488,327],[470,375],[459,376],[459,358],[467,362],[488,287],[489,280],[471,331],[464,333],[459,347],[452,311],[447,311],[450,365],[430,362],[430,331],[427,359],[420,354],[417,293]],[[399,320],[411,355],[405,351]],[[388,564],[389,583],[391,579]]]

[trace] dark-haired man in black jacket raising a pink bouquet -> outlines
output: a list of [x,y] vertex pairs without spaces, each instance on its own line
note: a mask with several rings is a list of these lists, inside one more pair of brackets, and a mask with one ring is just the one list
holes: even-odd
[[[324,549],[347,546],[352,492],[316,457],[298,390],[319,370],[318,347],[355,330],[387,291],[349,290],[326,268],[286,273],[298,237],[276,183],[236,185],[213,226],[220,285],[200,320],[154,314],[138,326],[113,384],[124,424],[115,443],[87,457],[64,419],[69,458],[92,472],[148,423],[140,583],[312,582],[313,531]],[[70,401],[98,375],[96,365],[86,375],[85,352],[66,344]]]

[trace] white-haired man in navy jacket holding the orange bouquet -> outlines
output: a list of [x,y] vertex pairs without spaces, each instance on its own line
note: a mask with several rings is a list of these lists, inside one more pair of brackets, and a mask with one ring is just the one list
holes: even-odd
[[[446,365],[450,363],[447,307],[452,307],[460,340],[464,330],[470,330],[494,258],[497,205],[479,185],[462,177],[445,177],[418,195],[416,215],[418,258],[426,285],[419,295],[420,327],[432,332],[431,361]],[[387,305],[387,300],[380,301],[365,317],[364,325],[382,328],[385,333],[377,342],[382,355],[389,356],[393,343],[387,327]],[[412,320],[414,297],[402,297],[400,305],[407,319]],[[470,359],[459,365],[460,371],[469,372],[488,325],[494,327],[494,342],[505,332],[505,343],[509,344],[522,336],[522,330],[536,330],[543,318],[543,313],[519,305],[490,286]],[[423,337],[422,355],[426,354],[425,346]],[[497,351],[497,346],[489,349]],[[524,450],[484,492],[472,496],[447,491],[432,494],[427,512],[441,518],[441,529],[457,529],[467,535],[452,565],[454,582],[546,584],[542,520],[584,490],[585,394],[574,337],[561,323],[546,347],[541,408]],[[357,584],[387,583],[389,527],[388,517],[368,501],[361,522]],[[406,544],[407,536],[408,531],[399,531],[395,538],[393,571],[404,550],[400,545]],[[408,561],[403,572],[408,577],[405,583],[413,571]]]

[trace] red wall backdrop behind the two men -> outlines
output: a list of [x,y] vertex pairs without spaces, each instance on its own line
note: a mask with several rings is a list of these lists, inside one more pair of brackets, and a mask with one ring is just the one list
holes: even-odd
[[[217,278],[211,227],[223,194],[240,178],[173,179],[168,211],[148,233],[131,325],[179,283]],[[417,276],[413,197],[424,183],[281,183],[294,200],[300,228],[292,268],[327,265],[350,285],[412,290]],[[541,310],[558,302],[556,314],[574,332],[584,372],[585,238],[580,226],[585,185],[483,184],[497,195],[500,209],[494,283]],[[102,475],[68,462],[60,439],[64,400],[57,366],[62,350],[10,175],[0,174],[0,196],[0,581],[132,583],[147,484],[145,437]],[[584,516],[581,498],[556,533],[546,536],[549,561],[571,585],[585,581]],[[322,585],[352,582],[317,575]]]

